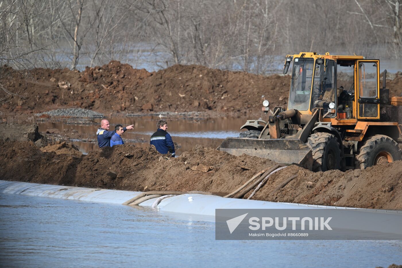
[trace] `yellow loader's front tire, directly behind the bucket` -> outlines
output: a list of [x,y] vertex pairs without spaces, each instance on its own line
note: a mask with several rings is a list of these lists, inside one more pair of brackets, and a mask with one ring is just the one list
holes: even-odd
[[340,169],[339,142],[333,134],[318,132],[307,141],[313,153],[313,171]]

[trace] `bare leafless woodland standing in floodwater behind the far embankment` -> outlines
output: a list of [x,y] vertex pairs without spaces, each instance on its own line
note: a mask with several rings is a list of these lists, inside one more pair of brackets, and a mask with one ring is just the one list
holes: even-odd
[[0,56],[15,68],[124,60],[257,74],[275,68],[275,56],[300,51],[398,58],[401,2],[3,0]]

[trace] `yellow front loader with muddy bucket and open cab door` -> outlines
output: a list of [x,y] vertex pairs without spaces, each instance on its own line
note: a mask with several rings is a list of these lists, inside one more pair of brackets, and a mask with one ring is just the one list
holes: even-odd
[[266,120],[248,120],[246,131],[226,138],[218,150],[313,171],[402,159],[402,125],[380,112],[390,98],[386,70],[380,88],[379,60],[301,52],[286,56],[284,74],[291,64],[287,109],[270,109],[265,100]]

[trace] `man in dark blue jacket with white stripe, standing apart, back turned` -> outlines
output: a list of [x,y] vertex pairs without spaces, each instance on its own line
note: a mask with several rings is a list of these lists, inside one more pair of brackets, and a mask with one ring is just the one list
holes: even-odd
[[156,123],[158,130],[151,136],[151,145],[154,145],[156,150],[161,154],[172,154],[172,157],[176,156],[174,151],[174,144],[172,137],[166,130],[168,129],[168,123],[165,120],[159,120]]

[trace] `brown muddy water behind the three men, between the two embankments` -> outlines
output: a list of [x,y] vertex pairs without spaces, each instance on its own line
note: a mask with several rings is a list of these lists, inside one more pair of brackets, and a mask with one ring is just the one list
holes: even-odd
[[[133,144],[146,148],[149,146],[150,136],[156,131],[158,116],[141,117],[115,117],[109,118],[112,130],[116,124],[123,126],[134,125],[133,130],[127,130],[122,138],[125,144]],[[250,119],[250,118],[249,118]],[[82,153],[97,150],[96,130],[100,127],[99,119],[89,120],[86,124],[72,122],[38,122],[39,131],[45,132],[50,128],[57,128],[60,132],[64,129],[74,129],[80,135],[72,138]],[[171,118],[168,120],[168,132],[173,142],[178,144],[176,155],[190,150],[196,144],[217,148],[226,137],[237,137],[241,132],[240,127],[246,122],[246,118],[209,118],[191,120],[183,118]]]

